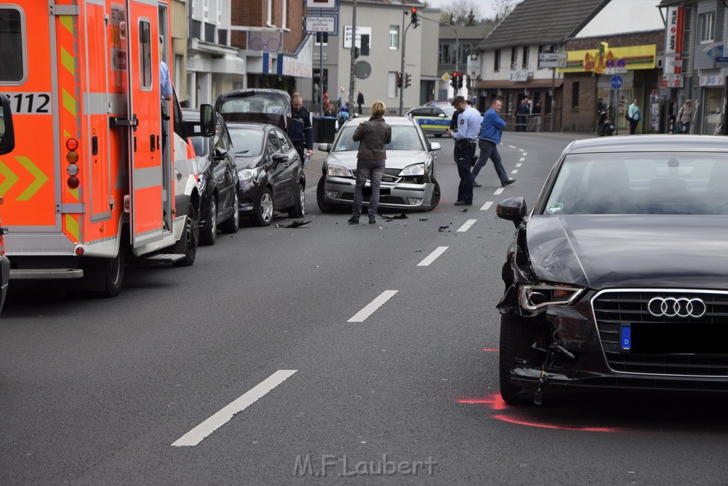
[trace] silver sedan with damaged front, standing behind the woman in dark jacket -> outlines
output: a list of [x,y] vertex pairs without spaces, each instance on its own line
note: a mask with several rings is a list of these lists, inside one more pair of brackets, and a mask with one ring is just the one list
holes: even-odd
[[[339,129],[333,144],[320,144],[329,152],[323,176],[317,187],[317,202],[323,212],[336,211],[354,200],[357,151],[354,131],[365,119],[350,119]],[[409,117],[385,117],[392,127],[392,142],[387,144],[387,164],[381,180],[380,208],[430,211],[440,203],[440,184],[435,179],[437,142],[430,143],[419,125]],[[363,204],[371,196],[370,181],[363,190]]]

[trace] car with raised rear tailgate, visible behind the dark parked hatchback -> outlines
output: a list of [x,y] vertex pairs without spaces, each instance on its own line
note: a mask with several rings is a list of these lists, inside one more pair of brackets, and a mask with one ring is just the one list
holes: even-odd
[[248,88],[218,96],[215,111],[226,122],[260,122],[288,129],[290,95],[282,90]]

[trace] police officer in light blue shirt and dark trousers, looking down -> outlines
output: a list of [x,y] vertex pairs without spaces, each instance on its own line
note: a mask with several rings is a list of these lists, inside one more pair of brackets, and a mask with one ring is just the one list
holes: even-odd
[[456,206],[472,205],[472,162],[475,160],[475,147],[478,145],[478,132],[480,129],[480,111],[468,106],[462,96],[456,96],[452,101],[453,107],[459,113],[457,117],[457,131],[448,130],[448,136],[455,139],[457,172],[460,176],[460,185],[457,191]]

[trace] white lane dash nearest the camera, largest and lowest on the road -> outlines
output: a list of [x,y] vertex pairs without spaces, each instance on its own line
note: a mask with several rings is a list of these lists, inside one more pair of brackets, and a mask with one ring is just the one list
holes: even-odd
[[231,401],[226,405],[226,407],[199,424],[199,426],[181,436],[172,445],[175,447],[183,447],[199,444],[202,442],[202,439],[205,439],[205,437],[228,423],[235,414],[250,407],[250,405],[258,401],[258,399],[261,399],[273,388],[277,387],[285,380],[288,380],[288,377],[297,371],[298,369],[279,369],[277,372],[273,373],[273,375],[270,375],[265,380],[261,381],[261,383],[258,383],[258,385],[250,388],[249,391],[243,393],[242,396]]

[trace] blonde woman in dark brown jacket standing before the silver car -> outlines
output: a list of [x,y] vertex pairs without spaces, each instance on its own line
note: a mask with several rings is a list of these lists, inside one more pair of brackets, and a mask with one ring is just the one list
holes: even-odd
[[362,191],[366,180],[371,181],[369,199],[369,224],[376,223],[376,210],[379,207],[379,186],[384,175],[384,161],[387,160],[385,145],[392,141],[392,127],[384,122],[387,106],[375,101],[371,106],[371,118],[359,124],[352,137],[359,142],[357,152],[357,186],[354,189],[354,204],[349,224],[359,224],[362,213]]

